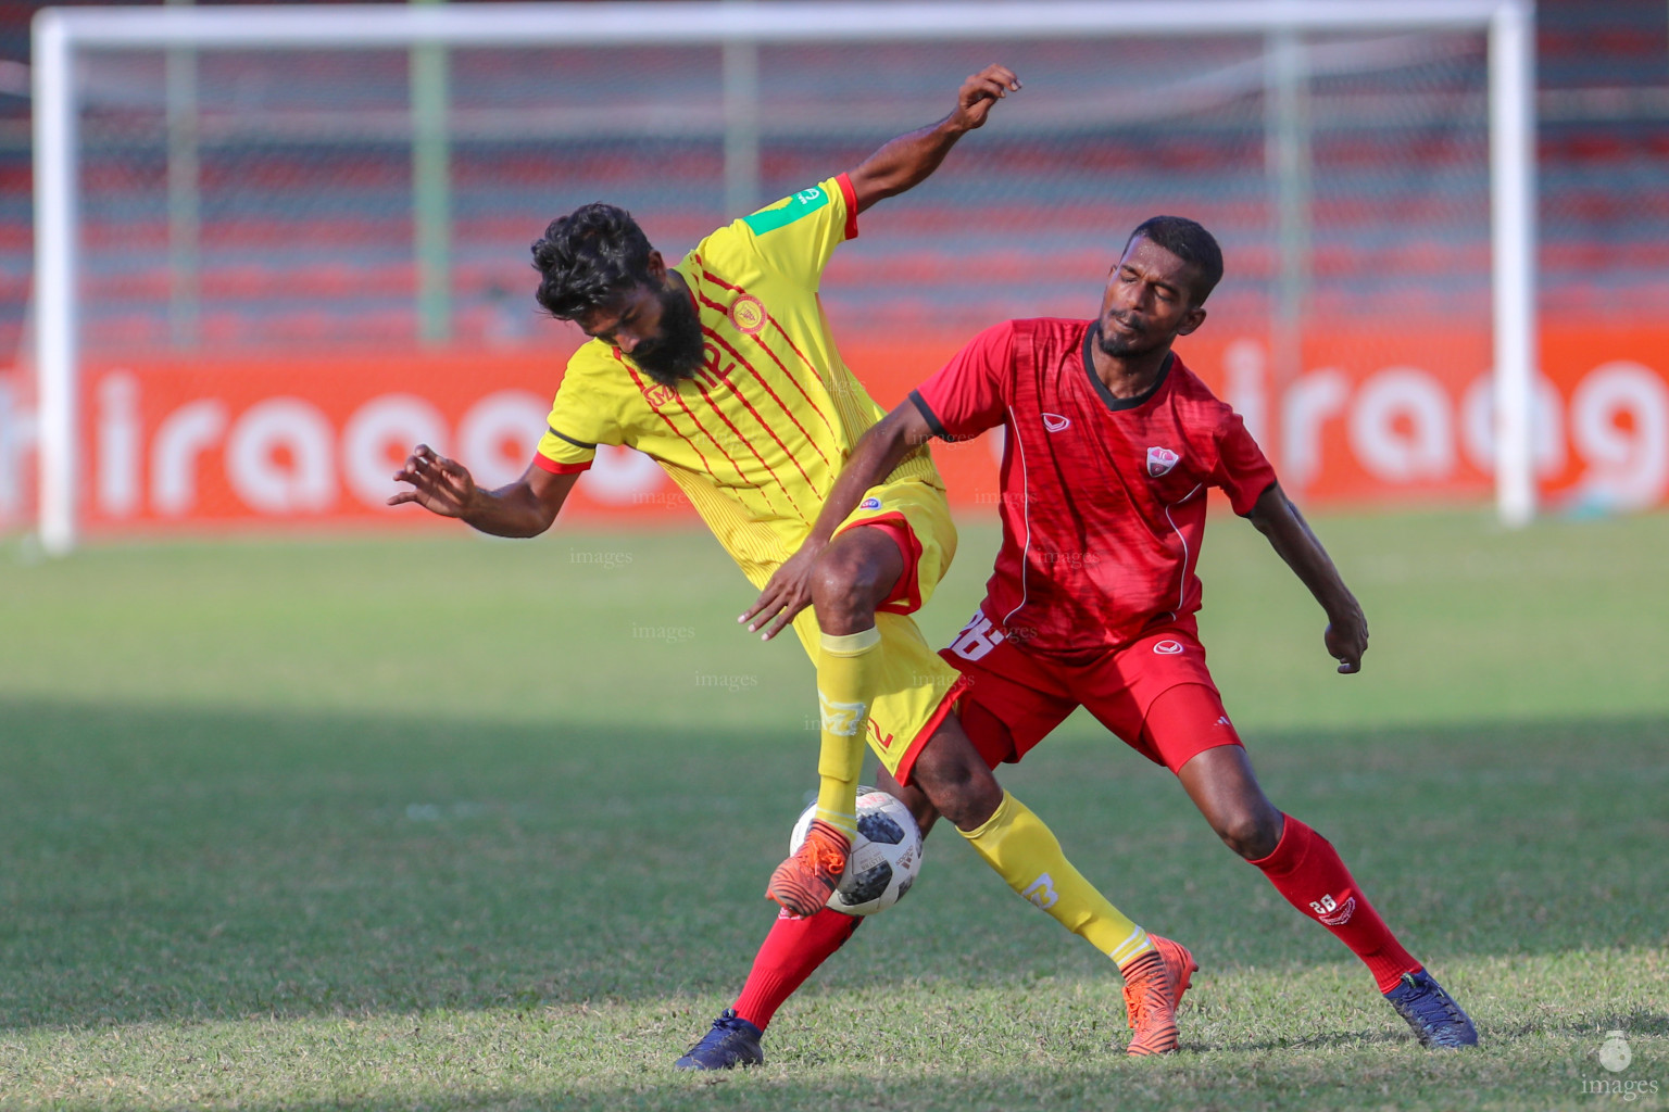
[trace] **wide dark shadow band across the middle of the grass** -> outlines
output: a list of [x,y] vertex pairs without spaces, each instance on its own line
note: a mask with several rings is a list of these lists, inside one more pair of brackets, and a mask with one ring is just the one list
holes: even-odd
[[[668,732],[12,702],[0,722],[0,1029],[669,997],[716,1010],[769,924],[759,892],[814,760],[798,720]],[[1535,954],[1659,937],[1664,727],[1285,735],[1258,755],[1278,800],[1360,847],[1400,930]],[[1339,959],[1285,905],[1248,912],[1267,885],[1132,762],[1063,742],[1015,779],[1122,904],[1155,909],[1218,969]],[[813,984],[1021,992],[1095,959],[948,829],[923,879]]]

